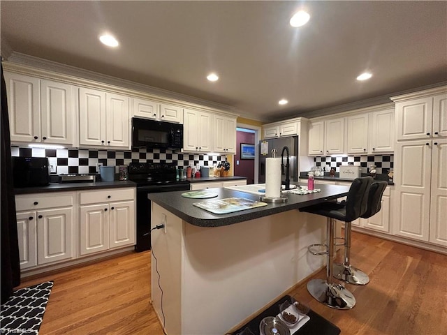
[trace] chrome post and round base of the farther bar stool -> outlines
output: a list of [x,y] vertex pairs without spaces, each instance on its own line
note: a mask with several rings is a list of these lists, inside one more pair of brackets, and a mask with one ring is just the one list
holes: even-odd
[[369,277],[365,272],[353,267],[351,258],[351,222],[344,223],[344,262],[343,264],[334,264],[334,277],[340,281],[354,285],[366,285],[369,283]]

